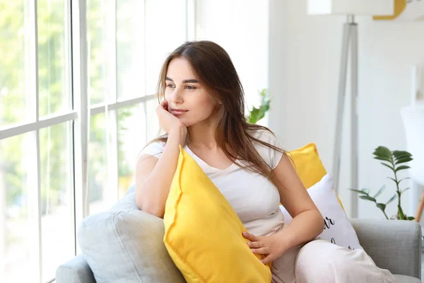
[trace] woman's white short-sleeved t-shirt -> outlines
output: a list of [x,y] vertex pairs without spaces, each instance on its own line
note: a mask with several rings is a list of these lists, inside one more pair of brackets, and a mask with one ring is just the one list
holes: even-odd
[[[254,137],[280,147],[276,137],[266,130],[257,131]],[[160,158],[164,146],[165,144],[160,141],[149,144],[141,154]],[[276,168],[283,154],[257,142],[254,142],[254,146],[264,161],[272,169]],[[242,169],[234,163],[226,169],[214,168],[197,157],[188,146],[184,146],[184,150],[218,187],[249,233],[269,236],[282,228],[284,216],[279,208],[280,195],[277,187],[267,178]]]

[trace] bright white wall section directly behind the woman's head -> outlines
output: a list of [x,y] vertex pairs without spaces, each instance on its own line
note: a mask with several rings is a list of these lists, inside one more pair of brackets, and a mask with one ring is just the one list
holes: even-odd
[[228,52],[251,109],[259,103],[258,92],[268,88],[268,1],[199,0],[196,4],[196,39],[212,40]]

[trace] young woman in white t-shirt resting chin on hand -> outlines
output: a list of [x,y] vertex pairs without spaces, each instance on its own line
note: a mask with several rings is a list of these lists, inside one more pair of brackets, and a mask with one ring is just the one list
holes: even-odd
[[[167,134],[137,161],[139,209],[163,217],[182,145],[235,209],[252,253],[272,261],[272,282],[394,282],[363,250],[316,239],[322,215],[273,133],[246,122],[242,84],[222,47],[178,47],[163,64],[158,95],[156,114]],[[280,202],[293,216],[287,226]]]

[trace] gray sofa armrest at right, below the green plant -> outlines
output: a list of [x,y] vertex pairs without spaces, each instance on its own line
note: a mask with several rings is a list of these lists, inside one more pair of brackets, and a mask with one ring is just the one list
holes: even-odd
[[421,279],[421,227],[416,221],[350,219],[359,243],[375,264]]

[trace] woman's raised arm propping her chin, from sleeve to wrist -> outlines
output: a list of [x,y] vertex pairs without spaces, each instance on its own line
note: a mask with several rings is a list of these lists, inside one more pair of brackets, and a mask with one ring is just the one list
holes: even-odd
[[143,154],[136,163],[136,204],[143,212],[163,218],[165,202],[177,168],[179,145],[184,146],[186,127],[170,130],[162,156]]

